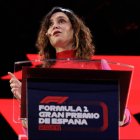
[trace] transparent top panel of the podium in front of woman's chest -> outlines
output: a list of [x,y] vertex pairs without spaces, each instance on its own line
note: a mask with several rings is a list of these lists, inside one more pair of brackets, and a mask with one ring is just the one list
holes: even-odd
[[46,68],[69,68],[69,69],[95,69],[95,70],[128,70],[132,71],[134,66],[120,62],[108,61],[106,59],[76,60],[76,59],[47,59],[17,61],[14,63],[14,71],[19,71],[23,66],[46,67]]

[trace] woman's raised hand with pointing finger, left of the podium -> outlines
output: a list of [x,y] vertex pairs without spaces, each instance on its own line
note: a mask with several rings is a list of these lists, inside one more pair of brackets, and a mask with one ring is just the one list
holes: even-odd
[[13,93],[13,95],[18,99],[21,100],[21,82],[16,78],[16,76],[11,73],[8,72],[8,74],[10,75],[10,87],[11,87],[11,91]]

